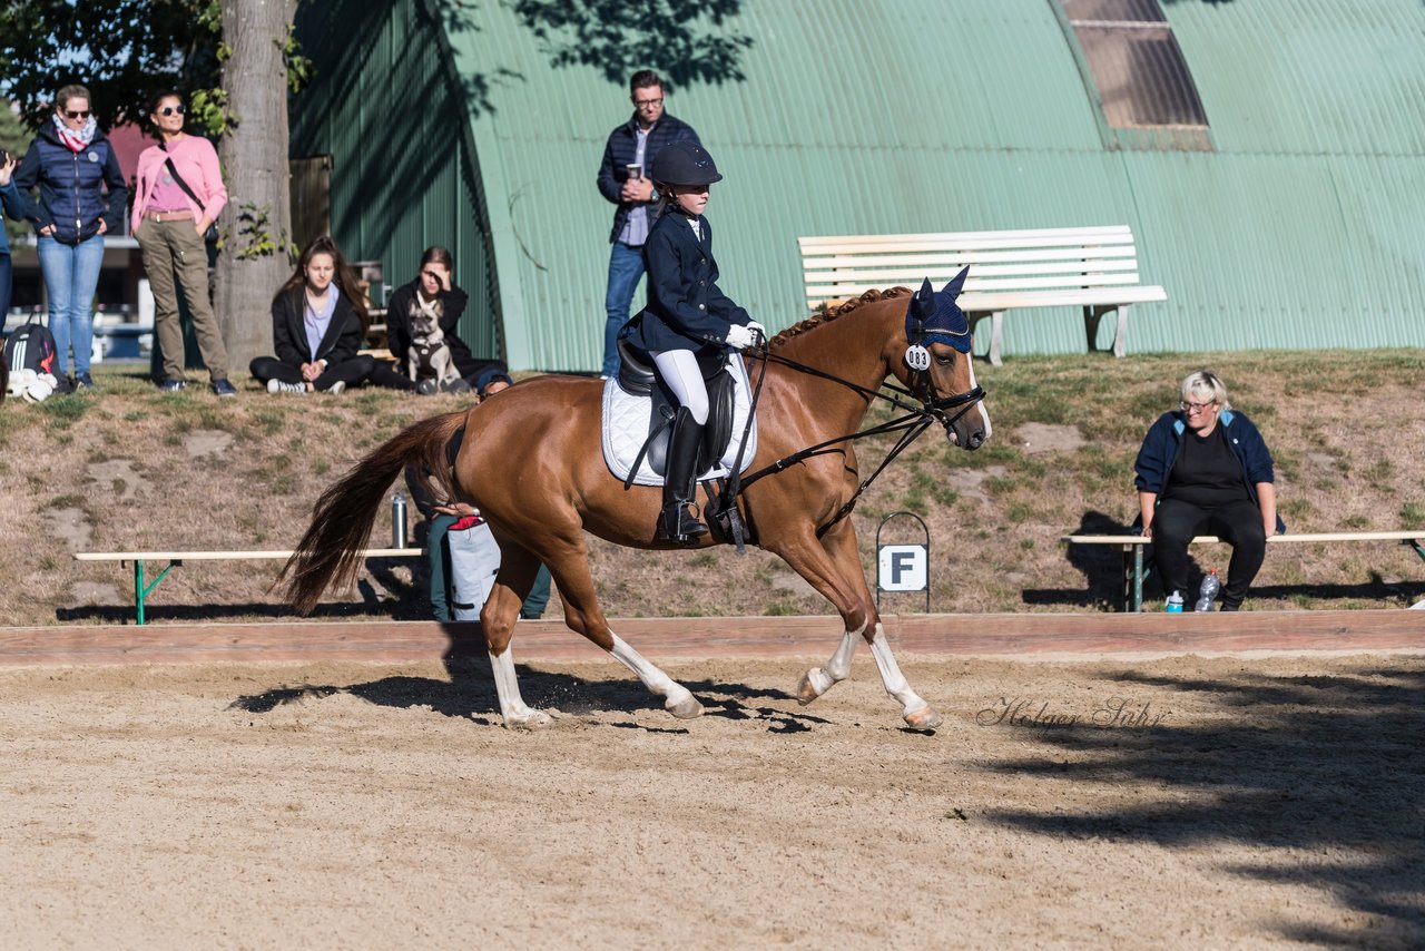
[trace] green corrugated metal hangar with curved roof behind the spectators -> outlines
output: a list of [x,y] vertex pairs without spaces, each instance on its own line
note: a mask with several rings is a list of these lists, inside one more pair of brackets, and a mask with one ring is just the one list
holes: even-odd
[[[302,4],[294,204],[415,279],[456,252],[462,332],[594,372],[627,77],[671,80],[725,181],[725,289],[805,317],[799,235],[1127,224],[1133,351],[1425,345],[1421,0],[730,0],[687,23],[590,0]],[[641,301],[636,298],[636,307]],[[1015,354],[1082,321],[1006,321]]]

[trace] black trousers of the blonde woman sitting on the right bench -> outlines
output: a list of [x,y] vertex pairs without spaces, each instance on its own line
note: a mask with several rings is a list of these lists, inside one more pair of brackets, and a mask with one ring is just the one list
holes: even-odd
[[1261,509],[1251,499],[1214,508],[1177,499],[1159,503],[1153,513],[1153,565],[1163,580],[1163,590],[1183,592],[1183,600],[1188,605],[1197,600],[1197,589],[1188,587],[1193,560],[1187,555],[1187,545],[1194,535],[1216,535],[1233,546],[1221,597],[1223,609],[1240,607],[1267,556]]

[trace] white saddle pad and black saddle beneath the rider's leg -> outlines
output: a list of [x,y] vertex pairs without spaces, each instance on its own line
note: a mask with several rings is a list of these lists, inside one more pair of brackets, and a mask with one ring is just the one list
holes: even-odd
[[[603,448],[608,471],[631,485],[663,485],[667,472],[668,436],[678,403],[658,381],[651,361],[618,341],[618,375],[604,384]],[[730,475],[738,442],[747,426],[751,395],[742,361],[711,351],[700,355],[698,366],[708,389],[708,422],[698,448],[698,480]],[[757,426],[748,436],[742,465],[751,465],[757,449]]]

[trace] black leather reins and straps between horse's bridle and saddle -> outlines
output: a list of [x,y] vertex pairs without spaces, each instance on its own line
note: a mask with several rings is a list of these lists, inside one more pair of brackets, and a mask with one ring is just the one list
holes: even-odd
[[[871,488],[871,483],[876,480],[876,476],[879,476],[885,471],[885,468],[888,465],[891,465],[891,462],[898,455],[901,455],[912,442],[915,442],[916,439],[919,439],[921,433],[923,433],[931,426],[932,422],[939,422],[946,429],[949,429],[952,425],[955,425],[955,422],[960,416],[963,416],[965,413],[968,413],[970,411],[970,406],[973,406],[979,401],[985,399],[985,389],[982,386],[979,386],[979,385],[976,385],[973,389],[970,389],[968,392],[958,394],[955,396],[936,396],[935,395],[935,384],[929,379],[929,374],[925,374],[925,378],[926,378],[926,394],[928,394],[929,399],[923,399],[919,406],[915,406],[913,403],[908,403],[908,402],[905,402],[902,399],[898,399],[896,396],[891,396],[891,395],[886,395],[885,392],[882,392],[884,389],[891,389],[891,391],[893,391],[896,394],[901,394],[903,396],[909,396],[912,399],[919,399],[919,396],[916,396],[915,392],[912,392],[911,389],[908,389],[905,386],[901,386],[899,384],[889,384],[889,385],[884,385],[882,388],[878,388],[878,389],[869,389],[869,388],[862,386],[859,384],[852,384],[851,381],[842,379],[841,376],[836,376],[834,374],[828,374],[828,372],[825,372],[822,369],[818,369],[815,366],[808,366],[807,364],[802,364],[802,362],[789,359],[787,356],[782,356],[781,354],[772,354],[771,349],[768,349],[765,341],[762,342],[762,345],[758,349],[760,349],[760,352],[757,354],[757,356],[762,361],[762,372],[758,375],[758,378],[757,378],[757,388],[752,392],[752,405],[748,409],[748,415],[747,415],[747,431],[744,431],[744,433],[742,433],[742,445],[738,446],[738,451],[737,451],[737,465],[732,468],[732,478],[728,480],[728,488],[722,493],[720,505],[718,505],[718,512],[720,513],[721,512],[735,513],[737,512],[737,495],[742,489],[745,489],[747,486],[750,486],[754,482],[757,482],[758,479],[762,479],[765,476],[782,472],[788,466],[797,465],[798,462],[802,462],[804,459],[809,459],[811,456],[815,456],[815,455],[819,455],[822,452],[829,451],[831,446],[835,446],[835,445],[839,445],[839,443],[844,443],[844,442],[851,442],[851,441],[855,441],[855,439],[864,439],[866,436],[881,436],[881,435],[885,435],[885,433],[889,433],[889,432],[901,432],[902,433],[901,438],[896,441],[896,445],[891,448],[891,452],[888,452],[886,456],[885,456],[885,459],[881,461],[881,465],[876,466],[876,471],[872,472],[865,479],[862,479],[861,485],[856,486],[856,490],[851,495],[849,499],[846,499],[846,503],[842,505],[841,509],[836,510],[836,515],[834,515],[829,522],[826,522],[825,525],[822,525],[822,526],[819,526],[817,529],[817,538],[821,538],[828,530],[831,530],[831,528],[836,522],[839,522],[841,519],[844,519],[848,515],[851,515],[852,509],[856,508],[856,499],[861,498],[861,493],[865,492],[868,488]],[[777,461],[774,461],[774,462],[762,466],[761,469],[750,473],[747,478],[741,478],[741,475],[740,475],[738,471],[742,468],[742,452],[747,448],[748,432],[751,432],[752,418],[754,418],[754,413],[757,412],[757,401],[758,401],[758,398],[761,396],[761,392],[762,392],[762,381],[767,378],[767,365],[770,362],[772,362],[772,361],[775,361],[778,364],[782,364],[784,366],[789,366],[791,369],[795,369],[797,372],[807,374],[809,376],[818,376],[821,379],[829,379],[829,381],[832,381],[835,384],[839,384],[839,385],[845,386],[846,389],[851,389],[851,391],[854,391],[856,394],[861,394],[862,396],[866,396],[868,401],[869,399],[884,399],[884,401],[889,402],[891,405],[893,405],[895,408],[903,409],[906,412],[903,415],[901,415],[901,416],[896,416],[895,419],[889,419],[886,422],[878,423],[878,425],[871,426],[868,429],[861,429],[858,432],[851,432],[851,433],[846,433],[844,436],[836,436],[834,439],[826,439],[824,442],[818,442],[814,446],[807,446],[805,449],[799,449],[798,452],[794,452],[794,453],[791,453],[788,456],[782,456],[781,459],[777,459]],[[959,408],[958,413],[955,413],[953,416],[948,415],[948,411],[956,409],[956,408]],[[741,540],[738,539],[738,549],[741,550],[741,548],[742,548],[741,546]]]

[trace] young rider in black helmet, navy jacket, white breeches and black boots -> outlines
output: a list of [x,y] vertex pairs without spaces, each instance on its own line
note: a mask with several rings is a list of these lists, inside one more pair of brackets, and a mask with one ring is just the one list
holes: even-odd
[[707,526],[688,512],[695,506],[698,446],[708,421],[703,361],[724,348],[742,349],[767,334],[747,311],[717,287],[712,227],[703,217],[708,185],[721,181],[705,148],[673,143],[653,157],[651,178],[660,215],[643,245],[648,268],[648,304],[627,325],[628,342],[653,356],[658,376],[678,401],[668,438],[658,538],[695,545]]

